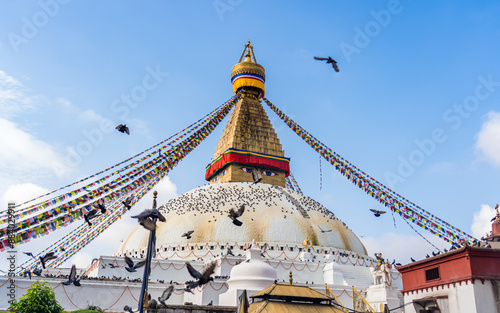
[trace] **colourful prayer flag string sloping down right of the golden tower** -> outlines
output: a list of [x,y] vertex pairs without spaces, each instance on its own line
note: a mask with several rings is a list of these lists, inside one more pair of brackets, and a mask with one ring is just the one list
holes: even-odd
[[375,200],[399,214],[403,219],[420,226],[449,243],[461,241],[472,242],[475,240],[471,235],[422,209],[413,202],[392,191],[381,182],[372,178],[316,139],[312,134],[307,132],[280,109],[274,106],[269,100],[266,98],[262,99],[271,110],[292,129],[292,131],[318,152],[326,161],[332,164],[344,177]]

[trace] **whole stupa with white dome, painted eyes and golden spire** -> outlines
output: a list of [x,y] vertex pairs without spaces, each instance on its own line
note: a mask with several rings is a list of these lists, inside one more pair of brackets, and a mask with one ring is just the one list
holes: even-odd
[[[328,287],[347,307],[352,307],[352,287],[364,293],[380,283],[381,290],[387,286],[401,290],[400,274],[389,264],[384,273],[377,272],[384,279],[374,279],[370,268],[377,260],[367,255],[360,239],[334,213],[285,187],[292,160],[259,101],[265,93],[265,69],[257,63],[250,42],[232,68],[231,83],[241,98],[206,167],[208,184],[159,207],[166,222],[157,223],[147,290],[152,299],[173,285],[169,305],[224,305],[231,311],[244,289],[252,296],[288,281],[290,272],[294,285],[323,293]],[[238,226],[228,215],[241,207]],[[194,231],[191,238],[183,237],[188,231]],[[65,288],[60,287],[61,279],[51,279],[58,301],[69,310],[88,304],[107,311],[135,307],[143,271],[128,272],[123,256],[134,262],[144,258],[148,237],[149,231],[138,226],[119,251],[101,256],[84,271],[96,279],[82,281],[79,289],[62,292],[57,289]],[[216,262],[214,280],[187,292],[185,282],[192,279],[187,261],[200,271]],[[18,284],[24,288],[31,281],[20,279]],[[371,298],[376,304],[387,303],[377,295]]]

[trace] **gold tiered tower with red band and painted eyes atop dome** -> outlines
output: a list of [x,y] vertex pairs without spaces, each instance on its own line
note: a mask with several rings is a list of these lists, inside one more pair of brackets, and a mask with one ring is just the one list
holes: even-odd
[[257,63],[250,41],[231,70],[231,82],[234,93],[241,91],[242,98],[229,118],[205,178],[210,184],[252,182],[251,170],[255,168],[262,176],[261,183],[284,187],[290,159],[284,157],[259,101],[265,91],[265,70]]

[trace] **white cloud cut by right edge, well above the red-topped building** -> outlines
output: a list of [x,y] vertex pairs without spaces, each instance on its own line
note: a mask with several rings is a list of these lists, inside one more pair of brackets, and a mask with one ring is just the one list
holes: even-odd
[[500,166],[500,113],[491,111],[477,134],[476,151],[487,161]]

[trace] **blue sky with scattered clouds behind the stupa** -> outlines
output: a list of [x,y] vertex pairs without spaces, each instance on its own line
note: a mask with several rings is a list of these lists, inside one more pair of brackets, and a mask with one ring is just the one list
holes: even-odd
[[[89,176],[198,120],[232,96],[231,67],[251,40],[271,102],[371,176],[482,236],[500,202],[499,15],[496,1],[2,2],[2,205]],[[340,72],[313,56],[331,56]],[[154,87],[125,114],[124,95],[145,79]],[[432,251],[398,216],[397,228],[390,214],[375,218],[369,209],[382,207],[324,160],[320,190],[318,155],[265,109],[304,193],[371,255],[405,263],[410,251]],[[131,135],[103,131],[103,120],[126,123]],[[163,199],[205,184],[224,126],[169,175]],[[70,158],[99,131],[87,155]],[[116,251],[116,237],[134,226],[119,223],[72,262]]]

